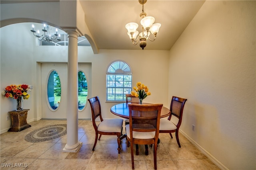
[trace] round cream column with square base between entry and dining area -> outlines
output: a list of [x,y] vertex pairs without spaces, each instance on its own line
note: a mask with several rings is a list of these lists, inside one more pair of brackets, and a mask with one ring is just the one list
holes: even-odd
[[78,141],[78,36],[75,29],[68,33],[68,103],[67,144],[63,152],[77,152],[82,146]]

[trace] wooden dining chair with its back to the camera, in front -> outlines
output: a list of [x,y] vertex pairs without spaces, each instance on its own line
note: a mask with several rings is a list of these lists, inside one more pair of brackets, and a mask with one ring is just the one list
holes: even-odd
[[154,169],[157,169],[156,150],[162,106],[163,104],[128,104],[130,124],[126,125],[126,133],[131,147],[132,169],[134,169],[134,144],[154,144]]

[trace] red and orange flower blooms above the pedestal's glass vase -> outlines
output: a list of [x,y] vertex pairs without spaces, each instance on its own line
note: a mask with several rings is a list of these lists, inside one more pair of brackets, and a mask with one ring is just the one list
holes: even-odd
[[30,86],[27,84],[22,84],[16,86],[15,84],[11,84],[10,86],[7,86],[3,92],[4,97],[6,98],[23,98],[23,99],[28,99],[29,94],[27,93],[28,90],[30,89]]

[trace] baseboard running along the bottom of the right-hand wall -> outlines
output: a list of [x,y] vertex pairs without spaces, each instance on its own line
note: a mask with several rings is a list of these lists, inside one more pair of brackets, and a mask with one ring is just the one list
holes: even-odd
[[216,166],[218,166],[222,170],[228,170],[226,166],[224,166],[218,159],[216,159],[212,154],[210,154],[207,150],[201,147],[196,141],[190,138],[186,133],[184,133],[181,129],[179,132],[184,135],[198,150],[200,150],[207,158],[209,158]]

